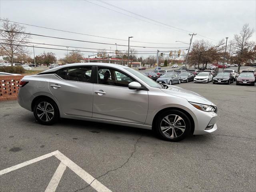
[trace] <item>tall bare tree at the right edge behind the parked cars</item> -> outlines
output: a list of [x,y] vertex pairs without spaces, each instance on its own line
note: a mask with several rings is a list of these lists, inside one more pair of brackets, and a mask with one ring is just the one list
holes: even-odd
[[233,53],[235,55],[234,60],[238,62],[238,73],[240,72],[241,64],[249,59],[248,52],[251,52],[255,46],[255,42],[250,42],[253,33],[254,29],[250,29],[247,23],[244,24],[239,34],[234,35],[234,39],[232,40]]

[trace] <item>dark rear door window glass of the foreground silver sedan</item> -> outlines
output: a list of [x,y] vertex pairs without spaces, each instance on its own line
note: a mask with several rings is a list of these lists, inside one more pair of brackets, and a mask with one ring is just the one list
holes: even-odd
[[92,66],[68,68],[67,80],[78,82],[90,82]]

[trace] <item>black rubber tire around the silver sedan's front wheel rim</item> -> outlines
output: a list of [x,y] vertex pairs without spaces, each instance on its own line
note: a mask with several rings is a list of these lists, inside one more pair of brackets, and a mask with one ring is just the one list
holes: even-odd
[[[182,131],[183,128],[182,128],[182,130],[181,130],[181,128],[174,128],[175,134],[173,134],[173,137],[172,137],[172,135],[168,136],[168,134],[172,134],[172,128],[167,128],[167,131],[161,130],[161,125],[163,125],[163,126],[166,125],[166,122],[163,121],[163,119],[166,116],[168,116],[168,120],[170,122],[172,122],[172,120],[174,120],[175,116],[179,116],[180,118],[182,118],[182,120],[179,120],[176,123],[176,126],[179,126],[177,124],[181,124],[180,127],[182,127],[182,125],[185,126],[184,132]],[[179,110],[166,110],[158,115],[157,120],[154,124],[153,130],[154,130],[154,133],[156,134],[156,136],[158,136],[159,138],[161,138],[163,140],[167,140],[167,141],[177,142],[177,141],[180,141],[180,140],[186,138],[186,136],[188,134],[190,134],[191,122],[190,122],[188,116],[186,116],[186,114],[184,114],[183,112],[181,112]],[[164,133],[164,131],[166,131],[166,132]],[[175,135],[176,135],[176,137],[175,137]]]

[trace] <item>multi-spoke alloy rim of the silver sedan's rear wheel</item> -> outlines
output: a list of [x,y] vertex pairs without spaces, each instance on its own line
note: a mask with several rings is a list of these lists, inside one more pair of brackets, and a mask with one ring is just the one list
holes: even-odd
[[48,102],[40,102],[36,106],[36,114],[40,120],[48,122],[54,117],[54,108]]

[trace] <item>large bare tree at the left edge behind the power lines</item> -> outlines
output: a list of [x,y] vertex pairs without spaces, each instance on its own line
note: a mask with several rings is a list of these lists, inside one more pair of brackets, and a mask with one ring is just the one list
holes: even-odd
[[9,22],[8,19],[1,20],[1,29],[0,38],[4,40],[0,40],[0,46],[3,49],[4,55],[10,58],[10,62],[13,65],[14,57],[20,54],[28,53],[27,49],[24,46],[30,39],[29,34],[22,34],[19,32],[26,32],[25,27],[16,23]]

